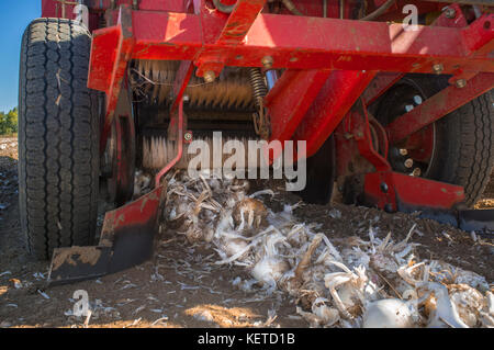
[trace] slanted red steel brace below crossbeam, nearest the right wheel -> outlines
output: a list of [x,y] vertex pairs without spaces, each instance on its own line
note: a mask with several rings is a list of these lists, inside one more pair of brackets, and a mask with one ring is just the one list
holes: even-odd
[[375,71],[335,70],[321,89],[293,136],[307,142],[313,156],[375,77]]

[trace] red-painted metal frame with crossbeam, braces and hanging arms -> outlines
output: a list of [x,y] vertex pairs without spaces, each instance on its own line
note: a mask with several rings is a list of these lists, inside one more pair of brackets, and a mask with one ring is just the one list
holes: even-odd
[[[43,0],[44,12],[53,11],[48,3],[54,1]],[[434,188],[428,190],[434,197],[425,195],[424,199],[440,207],[450,206],[462,197],[457,187],[393,173],[385,151],[383,156],[373,149],[366,105],[406,72],[448,74],[452,75],[451,83],[460,79],[467,81],[464,88],[449,87],[402,115],[386,127],[386,133],[374,127],[380,148],[385,150],[388,143],[407,138],[492,89],[494,14],[483,14],[467,25],[460,7],[452,4],[456,11],[452,18],[442,14],[433,25],[404,31],[401,23],[337,19],[337,1],[329,1],[329,18],[322,18],[322,4],[308,0],[295,3],[312,16],[291,15],[287,9],[278,14],[266,13],[266,0],[238,0],[231,14],[215,10],[209,0],[142,0],[139,10],[132,9],[132,0],[117,0],[114,9],[110,0],[89,2],[93,12],[106,11],[106,18],[113,19],[110,23],[115,23],[93,32],[88,77],[90,88],[106,93],[101,149],[104,149],[131,59],[182,61],[173,83],[169,128],[173,136],[183,129],[180,102],[194,67],[199,77],[206,71],[217,77],[225,66],[261,67],[262,59],[269,56],[272,68],[287,69],[265,101],[271,140],[306,140],[310,157],[335,129],[338,128],[338,134],[345,128],[343,125],[349,125],[345,137],[336,137],[341,150],[338,157],[351,157],[357,150],[374,167],[375,172],[366,176],[366,193],[371,202],[381,207],[389,204],[393,210],[397,208],[398,200],[425,203],[406,189],[413,185]],[[419,5],[422,13],[441,9],[438,3],[413,2]],[[351,2],[346,3],[343,16],[349,18]],[[381,3],[375,1],[373,5]],[[398,0],[380,19],[395,19],[404,3]],[[180,144],[181,138],[179,134]],[[413,137],[408,137],[411,140]],[[159,182],[159,177],[156,180]],[[378,193],[380,181],[389,182],[385,194]],[[437,192],[439,188],[446,192]],[[417,193],[422,195],[422,190]]]

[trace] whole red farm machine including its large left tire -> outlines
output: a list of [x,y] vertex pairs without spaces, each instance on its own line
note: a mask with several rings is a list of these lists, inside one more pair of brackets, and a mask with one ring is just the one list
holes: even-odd
[[[300,194],[493,230],[492,0],[42,0],[22,38],[19,181],[50,280],[147,260],[191,139],[303,140]],[[280,155],[272,155],[273,161]],[[136,170],[156,176],[134,196]],[[335,185],[336,184],[336,185]],[[105,213],[98,246],[101,193]]]

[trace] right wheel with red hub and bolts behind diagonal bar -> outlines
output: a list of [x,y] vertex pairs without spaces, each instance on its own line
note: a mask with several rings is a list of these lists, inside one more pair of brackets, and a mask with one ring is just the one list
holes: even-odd
[[[386,125],[448,86],[448,77],[409,75],[378,102],[374,116]],[[395,171],[462,185],[465,204],[482,195],[494,165],[492,91],[470,101],[434,124],[390,145]]]

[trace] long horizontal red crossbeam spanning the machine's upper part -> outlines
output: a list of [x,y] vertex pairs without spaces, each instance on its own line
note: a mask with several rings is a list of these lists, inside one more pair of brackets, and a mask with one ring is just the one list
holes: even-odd
[[[433,72],[434,65],[441,65],[442,74],[454,74],[494,72],[486,53],[472,55],[479,46],[493,44],[494,25],[485,24],[493,19],[494,14],[480,18],[475,31],[431,26],[404,31],[402,24],[259,14],[242,44],[204,39],[203,20],[197,14],[132,11],[127,21],[135,39],[134,59],[194,61],[211,52],[221,55],[225,66],[259,67],[265,56],[271,56],[273,68]],[[213,26],[209,31],[216,27],[221,33],[226,20],[212,16],[207,24]],[[94,32],[93,54],[117,49],[114,35],[121,25]],[[478,31],[480,26],[484,31]],[[465,41],[463,33],[474,35]],[[90,71],[89,86],[108,90],[114,55],[91,55],[91,63],[103,68]]]

